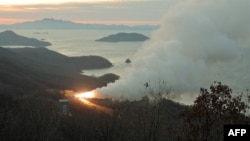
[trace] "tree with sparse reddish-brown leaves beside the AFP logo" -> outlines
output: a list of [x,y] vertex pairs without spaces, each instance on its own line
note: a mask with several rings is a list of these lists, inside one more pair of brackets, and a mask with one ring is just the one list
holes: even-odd
[[194,104],[185,109],[181,116],[189,127],[191,141],[222,140],[223,125],[243,123],[248,106],[242,95],[232,96],[232,90],[221,82],[214,82],[210,90],[201,88]]

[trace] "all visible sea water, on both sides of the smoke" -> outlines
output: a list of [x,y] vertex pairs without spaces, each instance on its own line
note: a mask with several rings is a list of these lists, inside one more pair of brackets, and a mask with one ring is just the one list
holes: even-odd
[[[101,37],[119,32],[137,32],[150,37],[152,31],[118,31],[118,30],[14,30],[17,34],[46,40],[52,43],[47,48],[67,56],[98,55],[110,60],[114,67],[99,70],[83,70],[86,75],[100,76],[105,73],[115,73],[122,76],[125,69],[131,64],[126,64],[126,59],[131,59],[142,42],[96,42]],[[35,34],[35,33],[46,34]],[[239,93],[250,88],[250,47],[241,48],[241,56],[230,62],[219,62],[210,68],[208,84],[221,81]],[[205,76],[204,76],[205,77]]]

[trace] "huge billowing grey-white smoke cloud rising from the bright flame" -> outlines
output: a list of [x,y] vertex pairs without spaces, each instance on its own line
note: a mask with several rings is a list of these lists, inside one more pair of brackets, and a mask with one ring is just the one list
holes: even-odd
[[239,48],[249,45],[249,6],[249,0],[180,0],[167,9],[125,75],[96,91],[103,97],[139,99],[146,82],[165,81],[177,99],[197,94],[208,83],[210,67],[234,59]]

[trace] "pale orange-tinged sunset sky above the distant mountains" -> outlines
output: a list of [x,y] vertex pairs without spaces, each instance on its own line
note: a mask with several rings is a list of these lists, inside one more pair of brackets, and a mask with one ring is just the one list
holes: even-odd
[[0,0],[0,24],[55,18],[78,23],[158,24],[175,0]]

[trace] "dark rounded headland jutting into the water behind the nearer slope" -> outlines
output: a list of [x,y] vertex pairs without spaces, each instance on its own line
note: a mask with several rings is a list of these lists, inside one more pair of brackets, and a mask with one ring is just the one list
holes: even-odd
[[47,48],[10,48],[9,50],[26,58],[26,63],[33,67],[50,73],[54,71],[67,74],[80,72],[83,69],[112,67],[111,62],[100,56],[68,57]]

